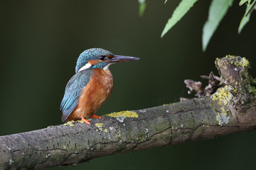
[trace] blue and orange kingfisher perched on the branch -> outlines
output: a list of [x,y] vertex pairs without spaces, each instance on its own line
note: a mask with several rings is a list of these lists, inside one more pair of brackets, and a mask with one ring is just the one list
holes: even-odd
[[60,103],[60,111],[63,112],[61,120],[82,120],[90,125],[90,121],[85,118],[101,119],[95,112],[112,92],[110,65],[135,60],[139,58],[113,55],[102,48],[90,48],[82,52],[75,66],[75,75],[68,81]]

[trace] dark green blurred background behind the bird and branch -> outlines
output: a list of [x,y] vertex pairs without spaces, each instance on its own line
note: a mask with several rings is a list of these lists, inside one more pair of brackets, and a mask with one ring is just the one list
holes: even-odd
[[[164,38],[161,31],[178,1],[146,2],[139,18],[137,1],[1,1],[0,135],[59,125],[65,85],[77,57],[90,47],[141,58],[110,67],[114,89],[98,115],[192,98],[183,80],[217,74],[215,58],[228,54],[247,57],[256,76],[256,12],[238,35],[245,6],[235,1],[202,52],[210,1],[198,1]],[[256,169],[255,135],[241,132],[63,169]]]

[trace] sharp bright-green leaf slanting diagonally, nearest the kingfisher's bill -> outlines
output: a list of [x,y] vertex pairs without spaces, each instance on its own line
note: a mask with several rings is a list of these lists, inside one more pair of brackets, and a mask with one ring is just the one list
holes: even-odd
[[188,12],[188,10],[196,3],[198,0],[182,0],[178,7],[174,10],[173,15],[169,18],[163,32],[161,33],[161,38],[178,22],[181,18]]

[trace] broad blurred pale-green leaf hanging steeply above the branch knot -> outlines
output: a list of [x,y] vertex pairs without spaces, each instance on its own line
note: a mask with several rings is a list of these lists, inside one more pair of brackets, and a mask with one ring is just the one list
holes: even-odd
[[213,0],[210,4],[208,20],[203,26],[203,51],[206,51],[210,38],[213,36],[213,33],[232,3],[233,0]]

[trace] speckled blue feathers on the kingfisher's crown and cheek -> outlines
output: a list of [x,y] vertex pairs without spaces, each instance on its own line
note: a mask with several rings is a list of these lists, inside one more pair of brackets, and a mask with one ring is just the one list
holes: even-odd
[[[77,73],[85,64],[87,64],[88,60],[99,60],[100,56],[113,55],[111,52],[104,50],[102,48],[90,48],[85,50],[78,57],[77,64],[75,66],[75,72]],[[98,67],[105,67],[108,63],[102,62]],[[94,67],[96,68],[96,67]],[[101,69],[102,69],[101,68]]]

